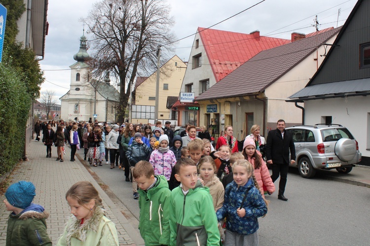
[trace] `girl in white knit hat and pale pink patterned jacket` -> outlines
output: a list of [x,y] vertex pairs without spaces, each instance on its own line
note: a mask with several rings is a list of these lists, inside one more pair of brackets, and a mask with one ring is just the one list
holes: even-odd
[[172,168],[176,164],[176,156],[170,151],[169,139],[166,134],[159,137],[159,148],[150,154],[149,162],[154,168],[154,175],[163,175],[169,181]]

